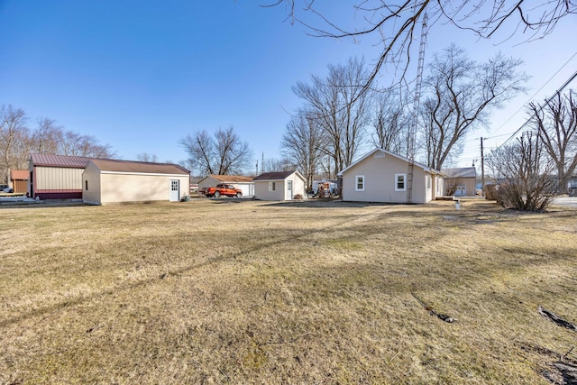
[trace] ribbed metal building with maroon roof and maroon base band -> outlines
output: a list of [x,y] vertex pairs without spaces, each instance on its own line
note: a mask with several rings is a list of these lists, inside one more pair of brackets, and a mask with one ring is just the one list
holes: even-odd
[[40,199],[81,199],[82,172],[90,158],[32,154],[28,193]]

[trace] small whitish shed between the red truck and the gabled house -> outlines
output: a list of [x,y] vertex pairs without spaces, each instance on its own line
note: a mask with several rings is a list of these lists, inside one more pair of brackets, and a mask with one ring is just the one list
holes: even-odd
[[252,179],[254,197],[261,200],[307,198],[307,180],[298,171],[265,172]]

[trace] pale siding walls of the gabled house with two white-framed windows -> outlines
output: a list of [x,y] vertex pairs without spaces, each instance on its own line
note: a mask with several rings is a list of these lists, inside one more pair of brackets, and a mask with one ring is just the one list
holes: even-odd
[[[343,200],[361,202],[407,203],[408,178],[405,189],[395,190],[397,174],[408,176],[408,162],[389,154],[377,152],[343,173]],[[357,191],[355,176],[364,176],[364,189]],[[435,180],[426,188],[426,175],[420,167],[413,168],[412,203],[426,203],[434,197]]]

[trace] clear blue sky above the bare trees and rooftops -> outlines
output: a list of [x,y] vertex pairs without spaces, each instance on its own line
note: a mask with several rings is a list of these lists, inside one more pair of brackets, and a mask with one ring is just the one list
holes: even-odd
[[[285,21],[284,7],[259,4],[0,0],[0,105],[23,108],[31,127],[48,117],[67,130],[94,135],[122,159],[149,152],[178,162],[187,157],[179,140],[188,133],[230,125],[249,142],[255,161],[262,152],[280,158],[289,113],[302,105],[291,87],[350,56],[371,63],[377,48],[369,39],[307,36],[303,27]],[[330,12],[354,25],[349,9]],[[545,40],[519,45],[523,38],[503,36],[476,41],[439,25],[427,38],[427,57],[451,42],[476,60],[502,50],[525,60],[523,69],[533,76],[528,95],[493,116],[490,133],[470,135],[459,165],[469,165],[478,153],[475,138],[498,129],[495,135],[501,136],[486,145],[503,142],[526,118],[524,111],[514,113],[538,88],[543,87],[534,98],[540,101],[577,70],[573,57],[551,79],[577,52],[574,17]]]

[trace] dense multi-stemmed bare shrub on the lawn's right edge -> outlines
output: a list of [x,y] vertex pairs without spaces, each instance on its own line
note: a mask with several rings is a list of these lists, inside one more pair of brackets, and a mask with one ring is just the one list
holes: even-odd
[[491,152],[487,164],[496,177],[506,179],[497,193],[500,205],[521,211],[543,211],[551,203],[555,166],[535,133],[527,133],[517,142]]

